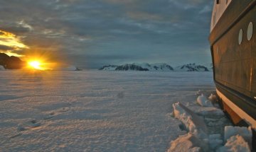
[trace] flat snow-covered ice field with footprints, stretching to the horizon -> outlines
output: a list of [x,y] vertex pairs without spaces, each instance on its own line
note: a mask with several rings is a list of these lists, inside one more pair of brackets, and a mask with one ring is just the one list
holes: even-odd
[[[0,71],[0,151],[167,151],[211,72]],[[193,107],[193,106],[191,106]]]

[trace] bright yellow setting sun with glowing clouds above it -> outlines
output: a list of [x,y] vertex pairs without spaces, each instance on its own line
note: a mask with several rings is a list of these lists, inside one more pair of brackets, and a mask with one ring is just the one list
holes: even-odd
[[[27,70],[53,70],[58,69],[61,61],[55,59],[46,48],[33,45],[28,46],[23,43],[23,37],[14,33],[0,29],[0,53],[7,54],[9,57],[20,57],[22,62],[22,69]],[[36,42],[35,42],[36,43]]]

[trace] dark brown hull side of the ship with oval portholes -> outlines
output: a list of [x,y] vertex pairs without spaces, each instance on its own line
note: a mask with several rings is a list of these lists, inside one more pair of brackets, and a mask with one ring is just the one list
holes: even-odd
[[[248,40],[250,23],[253,32]],[[256,0],[231,1],[209,40],[216,88],[256,119]]]

